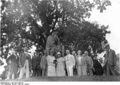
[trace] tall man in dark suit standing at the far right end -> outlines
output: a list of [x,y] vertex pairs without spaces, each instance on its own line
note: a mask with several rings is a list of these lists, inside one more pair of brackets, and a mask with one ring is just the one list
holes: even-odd
[[104,74],[109,76],[109,75],[116,75],[117,72],[115,70],[116,66],[116,54],[115,51],[110,49],[109,44],[104,45],[104,50],[106,51],[106,54],[104,55],[105,60],[104,60]]

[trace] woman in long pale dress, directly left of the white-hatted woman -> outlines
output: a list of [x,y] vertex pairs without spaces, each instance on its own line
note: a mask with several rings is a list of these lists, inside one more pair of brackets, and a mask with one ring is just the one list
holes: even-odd
[[53,56],[53,52],[50,52],[50,55],[47,56],[47,76],[52,77],[56,76],[56,70],[55,70],[55,57]]

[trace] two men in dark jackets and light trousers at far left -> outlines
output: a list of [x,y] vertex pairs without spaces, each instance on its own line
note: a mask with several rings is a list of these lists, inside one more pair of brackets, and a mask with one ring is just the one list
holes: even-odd
[[13,49],[12,53],[6,59],[7,66],[5,66],[5,72],[2,77],[6,80],[9,79],[22,79],[30,77],[30,55],[27,53],[25,47],[23,51],[18,55]]

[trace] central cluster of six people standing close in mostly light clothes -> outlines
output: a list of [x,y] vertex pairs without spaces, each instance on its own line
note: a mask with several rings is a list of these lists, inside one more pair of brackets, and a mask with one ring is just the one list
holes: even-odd
[[[80,50],[77,51],[77,54],[75,54],[75,51],[71,54],[70,50],[66,50],[65,57],[61,56],[60,52],[55,57],[53,52],[50,51],[50,55],[46,59],[48,64],[47,76],[93,75],[93,61],[88,56],[87,51],[82,55]],[[77,73],[74,72],[75,70]]]

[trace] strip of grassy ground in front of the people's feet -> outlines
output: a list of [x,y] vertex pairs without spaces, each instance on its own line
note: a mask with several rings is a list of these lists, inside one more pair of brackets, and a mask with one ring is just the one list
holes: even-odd
[[[19,81],[19,80],[18,80]],[[31,77],[23,81],[119,81],[120,76],[81,76],[81,77]]]

